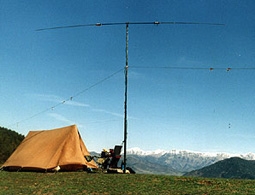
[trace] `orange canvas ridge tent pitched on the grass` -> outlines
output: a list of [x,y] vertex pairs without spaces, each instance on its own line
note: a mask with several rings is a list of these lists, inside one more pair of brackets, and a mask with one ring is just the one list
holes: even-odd
[[90,156],[77,126],[30,131],[17,149],[3,164],[6,170],[75,171],[84,168],[97,168],[96,163],[87,161]]

